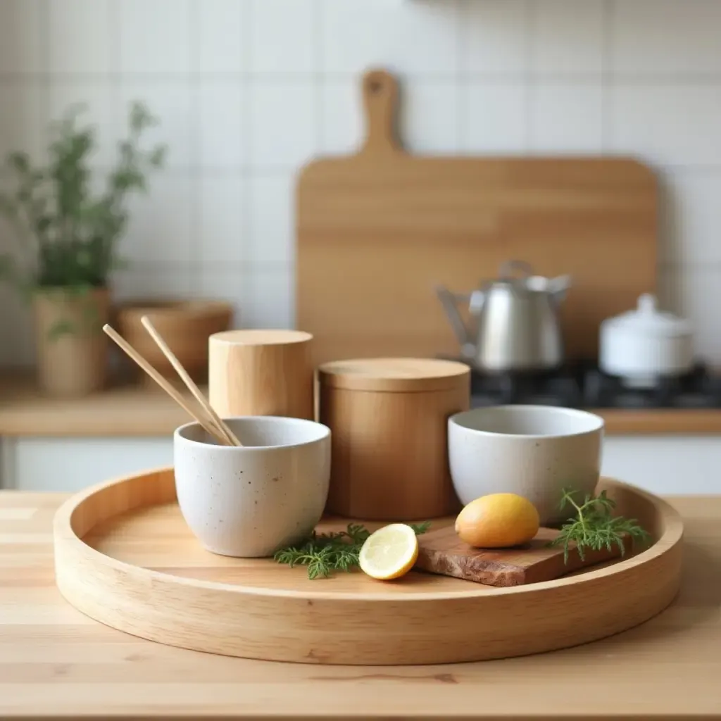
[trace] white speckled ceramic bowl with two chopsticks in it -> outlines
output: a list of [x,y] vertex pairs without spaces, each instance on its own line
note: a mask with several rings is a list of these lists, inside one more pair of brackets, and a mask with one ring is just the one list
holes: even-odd
[[330,429],[276,416],[224,420],[242,447],[218,445],[198,423],[175,431],[178,505],[208,551],[271,556],[307,536],[322,516]]

